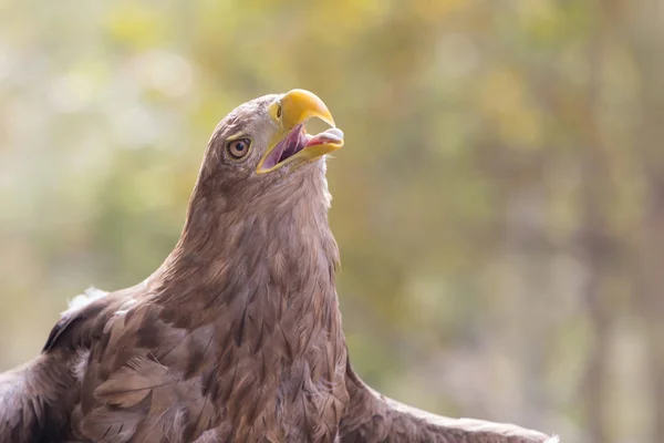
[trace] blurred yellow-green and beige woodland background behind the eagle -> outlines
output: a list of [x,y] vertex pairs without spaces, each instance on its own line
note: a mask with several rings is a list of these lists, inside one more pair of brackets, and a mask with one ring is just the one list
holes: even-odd
[[664,1],[0,0],[0,370],[169,253],[207,140],[319,94],[344,327],[398,400],[664,435]]

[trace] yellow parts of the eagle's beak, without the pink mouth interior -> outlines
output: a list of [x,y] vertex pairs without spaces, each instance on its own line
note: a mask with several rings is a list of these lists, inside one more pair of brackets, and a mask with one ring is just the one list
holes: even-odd
[[[279,130],[271,137],[264,155],[258,163],[256,171],[258,174],[274,171],[289,163],[302,164],[311,162],[343,146],[342,138],[328,138],[323,143],[315,143],[315,141],[312,141],[311,144],[303,146],[294,155],[274,163],[276,157],[280,156],[279,151],[282,151],[283,148],[283,143],[281,142],[284,141],[284,138],[292,136],[295,131],[303,131],[300,125],[304,124],[309,119],[318,117],[332,127],[336,126],[325,103],[323,103],[323,101],[314,93],[305,90],[292,90],[287,92],[270,105],[269,114],[279,124]],[[334,134],[339,133],[341,132],[338,131]],[[325,133],[322,133],[322,135],[324,134]],[[321,134],[319,134],[319,136]],[[311,138],[309,135],[307,135],[307,137]],[[273,152],[277,146],[279,146],[280,150]],[[270,158],[270,161],[266,163],[268,158]]]

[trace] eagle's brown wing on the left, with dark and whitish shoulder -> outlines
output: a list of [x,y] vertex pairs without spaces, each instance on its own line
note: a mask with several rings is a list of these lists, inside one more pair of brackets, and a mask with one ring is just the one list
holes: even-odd
[[0,443],[68,437],[81,393],[81,371],[104,323],[126,297],[87,290],[51,330],[42,353],[0,374]]

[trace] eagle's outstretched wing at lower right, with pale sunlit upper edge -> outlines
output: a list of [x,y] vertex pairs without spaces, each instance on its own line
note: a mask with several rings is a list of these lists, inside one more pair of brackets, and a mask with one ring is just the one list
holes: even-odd
[[557,443],[513,424],[448,419],[387,399],[346,368],[349,410],[341,421],[342,443]]

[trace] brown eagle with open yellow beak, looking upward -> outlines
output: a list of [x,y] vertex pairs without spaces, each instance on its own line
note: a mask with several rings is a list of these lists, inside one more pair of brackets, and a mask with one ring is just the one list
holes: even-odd
[[[330,128],[307,133],[313,117]],[[163,265],[76,297],[41,354],[0,374],[0,443],[556,441],[428,414],[353,371],[325,178],[343,144],[309,91],[231,111]]]

